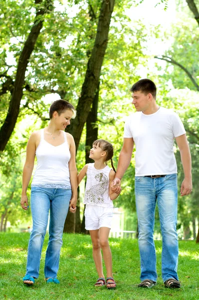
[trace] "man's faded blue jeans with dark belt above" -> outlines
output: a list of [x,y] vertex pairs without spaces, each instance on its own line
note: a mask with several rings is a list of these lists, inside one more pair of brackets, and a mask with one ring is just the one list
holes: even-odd
[[154,222],[158,202],[162,231],[162,277],[178,280],[177,174],[160,178],[135,177],[136,209],[138,215],[138,243],[141,258],[141,280],[157,280]]

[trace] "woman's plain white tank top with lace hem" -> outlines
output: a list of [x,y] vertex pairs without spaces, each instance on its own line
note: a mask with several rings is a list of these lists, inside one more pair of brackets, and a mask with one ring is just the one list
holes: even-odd
[[44,139],[44,129],[41,129],[40,143],[36,148],[37,167],[31,186],[71,188],[68,168],[70,150],[64,131],[63,135],[64,142],[53,146]]

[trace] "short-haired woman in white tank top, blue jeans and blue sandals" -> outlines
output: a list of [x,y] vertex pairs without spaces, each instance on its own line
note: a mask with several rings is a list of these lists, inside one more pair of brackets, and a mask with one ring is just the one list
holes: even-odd
[[34,131],[28,140],[23,168],[21,207],[28,209],[26,195],[35,155],[37,167],[31,183],[32,232],[28,244],[26,274],[23,283],[31,285],[38,277],[43,239],[50,211],[49,241],[45,256],[46,282],[59,283],[62,233],[68,208],[76,211],[77,169],[73,136],[64,129],[75,117],[75,109],[65,100],[50,105],[50,122],[47,127]]

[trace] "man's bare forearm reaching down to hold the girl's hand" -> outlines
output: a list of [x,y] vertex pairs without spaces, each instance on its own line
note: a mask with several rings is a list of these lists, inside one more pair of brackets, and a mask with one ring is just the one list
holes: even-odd
[[[119,155],[119,160],[118,160],[118,167],[117,171],[115,174],[115,179],[113,180],[113,183],[111,186],[115,186],[117,183],[120,183],[120,180],[124,176],[125,171],[127,170],[130,162],[131,162],[131,157],[133,153],[133,147],[134,147],[134,140],[133,137],[125,137],[122,150]],[[119,180],[117,179],[119,178]],[[112,188],[113,191],[115,191],[115,188]]]

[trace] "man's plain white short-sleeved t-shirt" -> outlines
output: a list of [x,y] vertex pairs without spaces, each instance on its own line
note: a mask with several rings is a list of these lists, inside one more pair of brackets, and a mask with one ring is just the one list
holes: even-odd
[[124,137],[133,137],[136,145],[136,176],[177,173],[174,138],[185,133],[178,114],[168,108],[129,115]]

